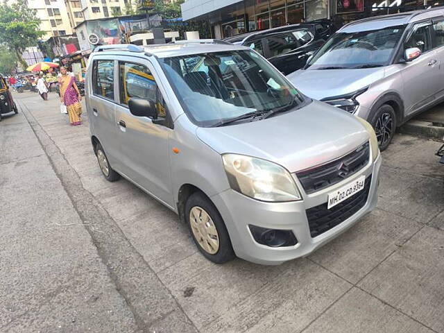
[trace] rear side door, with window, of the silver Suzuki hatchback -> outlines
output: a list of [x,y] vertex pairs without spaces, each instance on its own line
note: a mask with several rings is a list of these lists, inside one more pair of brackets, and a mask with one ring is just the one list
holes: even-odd
[[89,121],[92,133],[99,139],[114,169],[118,168],[116,126],[114,118],[115,87],[112,58],[94,58],[92,63],[91,92],[89,94]]

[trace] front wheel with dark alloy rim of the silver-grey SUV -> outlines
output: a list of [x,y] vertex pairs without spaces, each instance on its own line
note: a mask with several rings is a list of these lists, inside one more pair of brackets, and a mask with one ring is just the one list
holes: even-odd
[[395,110],[384,104],[377,109],[370,123],[375,128],[377,143],[379,144],[379,151],[384,151],[391,143],[396,130],[396,114]]

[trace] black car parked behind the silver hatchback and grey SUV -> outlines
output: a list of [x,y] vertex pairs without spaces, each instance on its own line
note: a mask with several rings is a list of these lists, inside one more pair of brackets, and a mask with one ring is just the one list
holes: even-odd
[[287,75],[304,67],[309,56],[315,53],[332,33],[332,22],[320,19],[244,33],[226,38],[225,41],[254,49]]

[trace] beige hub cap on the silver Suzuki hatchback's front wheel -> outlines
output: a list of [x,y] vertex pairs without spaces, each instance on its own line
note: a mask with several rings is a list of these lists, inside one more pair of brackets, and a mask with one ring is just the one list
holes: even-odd
[[201,207],[189,211],[189,223],[194,238],[205,252],[214,255],[219,250],[219,234],[210,215]]

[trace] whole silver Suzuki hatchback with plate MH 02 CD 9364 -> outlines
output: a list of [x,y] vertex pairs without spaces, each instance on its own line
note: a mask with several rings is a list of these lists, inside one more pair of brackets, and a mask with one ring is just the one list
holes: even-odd
[[213,262],[307,255],[376,205],[373,128],[245,46],[99,46],[86,82],[105,178],[176,212]]

